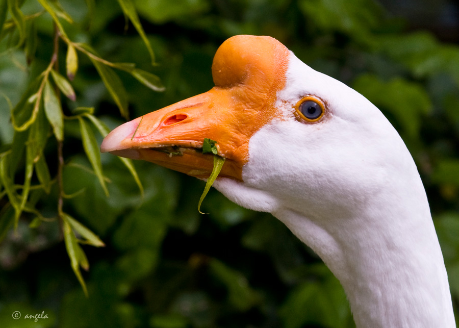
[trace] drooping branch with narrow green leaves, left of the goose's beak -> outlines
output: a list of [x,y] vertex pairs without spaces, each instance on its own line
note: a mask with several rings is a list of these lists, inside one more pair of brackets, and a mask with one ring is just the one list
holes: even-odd
[[[104,243],[81,224],[64,211],[65,199],[77,196],[84,192],[80,190],[72,195],[64,192],[63,169],[66,166],[63,149],[65,147],[65,121],[78,120],[83,149],[92,166],[91,173],[109,196],[106,185],[107,178],[103,174],[99,147],[93,132],[95,128],[101,136],[105,137],[109,129],[106,125],[94,116],[92,107],[80,107],[72,111],[71,116],[64,114],[61,94],[65,95],[72,102],[76,99],[76,93],[71,81],[77,75],[79,62],[78,53],[87,56],[96,68],[101,80],[112,96],[115,104],[123,117],[127,119],[127,92],[124,89],[121,79],[113,68],[130,73],[136,80],[155,91],[162,91],[164,87],[160,79],[150,72],[138,69],[133,63],[113,63],[103,59],[91,46],[86,43],[79,43],[70,40],[60,19],[70,24],[73,20],[58,1],[37,0],[44,10],[30,15],[23,15],[20,10],[21,1],[7,0],[0,1],[0,41],[9,35],[9,49],[21,49],[28,58],[28,64],[33,61],[33,54],[37,41],[35,19],[43,14],[49,14],[53,19],[53,53],[46,68],[29,84],[27,90],[22,94],[19,102],[13,107],[7,95],[4,97],[10,104],[11,123],[14,129],[13,141],[11,144],[0,148],[0,200],[6,198],[5,204],[0,210],[0,241],[14,225],[17,229],[19,219],[31,217],[29,224],[31,229],[37,228],[42,222],[53,223],[58,221],[61,231],[61,239],[64,240],[71,267],[77,276],[85,294],[87,289],[80,268],[89,269],[89,262],[80,244],[88,244],[96,247],[104,246]],[[144,41],[151,63],[155,63],[154,52],[142,29],[137,12],[132,0],[118,0],[118,3],[126,17],[128,17],[142,40]],[[92,17],[95,3],[87,0],[89,14]],[[8,18],[8,14],[10,16]],[[11,42],[15,40],[15,42]],[[66,72],[64,77],[59,72],[59,45],[62,40],[67,46],[65,57]],[[8,50],[7,50],[8,51]],[[1,56],[2,54],[0,54]],[[45,157],[45,146],[49,136],[54,135],[57,141],[57,173],[52,178]],[[25,167],[23,183],[16,184],[16,170],[18,163],[24,158]],[[143,188],[137,172],[128,159],[120,158],[124,166],[132,174],[136,184],[143,195]],[[39,184],[32,184],[33,174],[36,174]],[[57,192],[56,217],[47,218],[36,208],[38,199],[31,199],[31,191],[41,191],[49,194],[55,186]],[[36,198],[36,197],[35,197]],[[23,213],[27,213],[24,215]]]

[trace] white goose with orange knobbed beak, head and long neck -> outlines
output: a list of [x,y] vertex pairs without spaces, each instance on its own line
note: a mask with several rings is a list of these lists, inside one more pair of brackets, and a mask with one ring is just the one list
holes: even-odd
[[270,37],[226,40],[212,74],[210,91],[122,124],[102,152],[207,178],[212,156],[196,148],[216,140],[226,161],[214,187],[308,244],[358,327],[454,327],[419,173],[381,112]]

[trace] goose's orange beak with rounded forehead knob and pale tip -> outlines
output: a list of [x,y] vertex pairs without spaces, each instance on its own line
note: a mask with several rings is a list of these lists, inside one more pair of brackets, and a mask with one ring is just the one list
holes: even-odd
[[201,148],[209,138],[226,159],[219,176],[242,181],[250,137],[280,116],[274,104],[285,85],[288,56],[270,37],[226,40],[212,64],[214,88],[120,125],[104,139],[101,152],[208,178],[213,157]]

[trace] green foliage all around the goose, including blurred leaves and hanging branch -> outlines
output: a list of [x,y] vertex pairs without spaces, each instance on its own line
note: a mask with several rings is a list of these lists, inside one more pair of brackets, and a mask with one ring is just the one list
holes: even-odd
[[[213,55],[236,34],[277,38],[391,120],[426,187],[459,318],[456,45],[404,32],[372,0],[0,0],[1,27],[0,326],[354,326],[339,282],[271,215],[215,190],[201,215],[203,182],[94,151],[104,124],[210,89]],[[46,70],[37,119],[15,132]]]

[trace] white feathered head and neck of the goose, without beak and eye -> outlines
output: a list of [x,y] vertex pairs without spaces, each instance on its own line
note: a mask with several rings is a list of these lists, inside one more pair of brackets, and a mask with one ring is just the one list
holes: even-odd
[[[276,102],[283,117],[251,137],[244,182],[214,186],[272,213],[314,249],[359,327],[454,327],[427,197],[398,133],[365,97],[293,54],[286,77]],[[295,118],[305,95],[327,104],[322,121]]]

